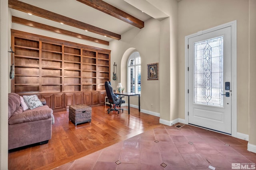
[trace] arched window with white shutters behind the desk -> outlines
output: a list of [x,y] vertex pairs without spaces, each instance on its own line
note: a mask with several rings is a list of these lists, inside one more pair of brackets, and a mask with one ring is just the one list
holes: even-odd
[[140,53],[138,51],[132,53],[128,60],[128,92],[139,93],[141,91],[141,67],[140,67]]

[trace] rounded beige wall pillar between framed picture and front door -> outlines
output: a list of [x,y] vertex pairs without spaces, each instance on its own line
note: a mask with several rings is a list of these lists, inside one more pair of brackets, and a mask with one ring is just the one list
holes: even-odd
[[160,122],[171,125],[178,119],[178,3],[168,2],[162,6],[170,17],[161,21]]

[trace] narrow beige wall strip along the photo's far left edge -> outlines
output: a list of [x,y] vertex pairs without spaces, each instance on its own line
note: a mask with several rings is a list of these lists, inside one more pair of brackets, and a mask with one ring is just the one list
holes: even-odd
[[0,169],[8,169],[8,0],[0,1]]

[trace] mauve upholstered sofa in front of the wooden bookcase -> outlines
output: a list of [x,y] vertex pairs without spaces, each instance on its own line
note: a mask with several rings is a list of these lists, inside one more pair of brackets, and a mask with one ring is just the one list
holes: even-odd
[[44,99],[40,101],[43,106],[23,111],[20,96],[8,94],[8,149],[34,143],[44,144],[52,138],[52,109]]

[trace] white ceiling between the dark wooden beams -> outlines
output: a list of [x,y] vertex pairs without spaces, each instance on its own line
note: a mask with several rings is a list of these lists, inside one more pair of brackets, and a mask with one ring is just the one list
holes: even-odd
[[[104,12],[96,10],[90,6],[87,6],[76,0],[20,0],[21,2],[37,6],[44,10],[48,10],[74,20],[82,21],[84,23],[106,29],[108,31],[122,35],[122,33],[134,28],[124,21],[114,18]],[[142,20],[146,21],[149,18],[156,18],[161,15],[161,11],[158,8],[154,8],[150,1],[152,0],[104,0],[108,4],[115,6],[116,8]],[[177,0],[180,1],[180,0]],[[138,3],[143,2],[143,3]],[[131,5],[132,4],[132,5]],[[134,7],[136,6],[136,7]],[[143,8],[143,9],[142,9]],[[147,11],[142,12],[141,10]],[[20,12],[10,8],[12,16],[24,18],[26,20],[31,20],[53,27],[58,27],[61,29],[66,29],[75,33],[80,33],[90,37],[102,39],[105,41],[111,41],[109,37],[104,37],[92,32],[86,32],[85,30],[78,29],[69,25],[61,25],[60,23],[48,19],[44,19],[38,16],[30,16],[27,13]],[[159,13],[160,12],[160,13]],[[147,13],[147,14],[146,14]],[[149,15],[148,15],[149,14]],[[164,13],[162,13],[164,15]],[[139,29],[136,27],[136,29]],[[121,37],[122,38],[122,37]]]

